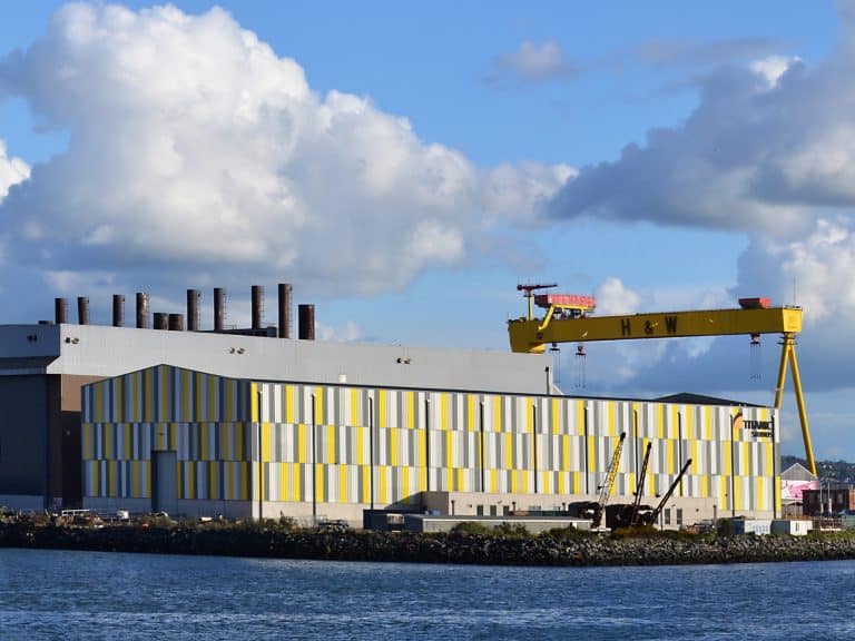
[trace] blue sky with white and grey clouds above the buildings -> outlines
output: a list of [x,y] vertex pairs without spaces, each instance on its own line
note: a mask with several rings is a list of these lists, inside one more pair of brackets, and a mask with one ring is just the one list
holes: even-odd
[[[321,337],[509,349],[518,283],[599,314],[804,308],[855,460],[855,2],[40,1],[0,22],[0,323],[249,286]],[[851,102],[853,102],[851,105]],[[566,345],[568,394],[770,405],[748,337]],[[583,363],[581,363],[583,361]],[[783,451],[804,452],[792,389]]]

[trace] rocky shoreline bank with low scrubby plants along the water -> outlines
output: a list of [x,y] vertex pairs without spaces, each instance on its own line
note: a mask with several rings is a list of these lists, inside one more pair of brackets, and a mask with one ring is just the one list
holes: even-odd
[[199,523],[144,517],[105,524],[28,517],[0,520],[0,548],[482,565],[685,565],[855,559],[855,534],[734,536],[724,526],[705,534],[557,529],[534,535],[519,526],[475,523],[425,534],[304,529],[289,519]]

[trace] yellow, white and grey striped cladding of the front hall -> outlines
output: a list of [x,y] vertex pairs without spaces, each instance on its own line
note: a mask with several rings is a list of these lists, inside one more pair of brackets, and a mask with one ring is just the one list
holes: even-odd
[[[723,513],[772,513],[780,495],[777,430],[743,427],[774,425],[767,407],[259,382],[167,365],[82,396],[90,506],[151,510],[158,474],[174,474],[174,509],[188,514],[355,520],[425,492],[550,504],[597,494],[622,432],[615,494],[635,491],[651,443],[648,502],[689,458],[679,494]],[[159,453],[174,453],[174,470],[156,473]]]

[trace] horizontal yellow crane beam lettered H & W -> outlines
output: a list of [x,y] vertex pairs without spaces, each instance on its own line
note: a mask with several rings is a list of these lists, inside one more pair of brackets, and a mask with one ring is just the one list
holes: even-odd
[[514,352],[542,352],[549,343],[631,341],[680,336],[726,336],[739,334],[796,334],[802,331],[802,309],[706,309],[625,316],[552,318],[542,327],[540,318],[511,320],[508,334]]

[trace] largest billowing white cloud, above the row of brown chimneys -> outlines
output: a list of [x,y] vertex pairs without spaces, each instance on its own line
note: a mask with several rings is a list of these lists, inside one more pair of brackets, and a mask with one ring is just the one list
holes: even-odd
[[0,210],[19,259],[55,273],[394,289],[476,256],[570,171],[481,169],[367,98],[320,96],[220,9],[69,4],[0,85],[70,132]]

